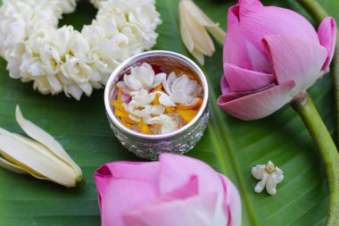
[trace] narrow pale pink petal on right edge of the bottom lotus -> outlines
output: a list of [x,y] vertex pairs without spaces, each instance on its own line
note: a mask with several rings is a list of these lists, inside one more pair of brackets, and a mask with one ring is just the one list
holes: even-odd
[[227,213],[228,223],[227,226],[240,226],[241,225],[241,200],[236,186],[228,180],[224,175],[219,174],[220,179],[223,181],[225,189],[225,202],[224,208]]

